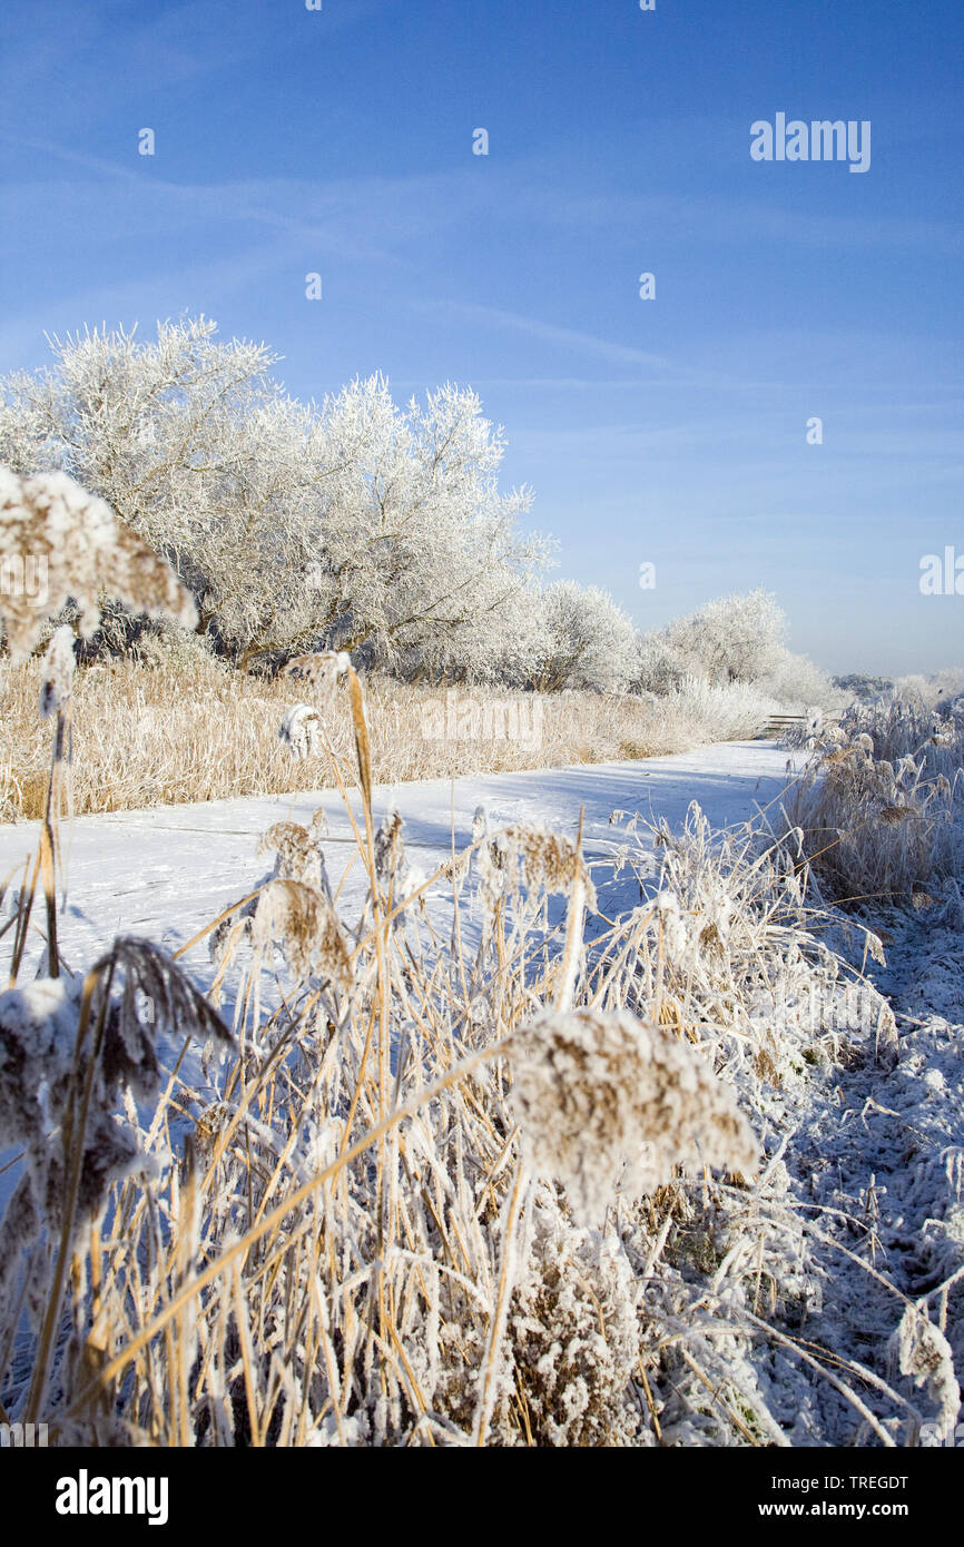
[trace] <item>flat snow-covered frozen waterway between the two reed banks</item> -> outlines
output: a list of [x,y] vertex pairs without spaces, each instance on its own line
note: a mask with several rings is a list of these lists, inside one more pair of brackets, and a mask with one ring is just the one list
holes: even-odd
[[[456,851],[472,842],[480,804],[486,804],[492,826],[543,821],[571,835],[585,806],[583,849],[588,859],[600,860],[613,849],[614,809],[662,817],[675,828],[696,800],[715,828],[729,826],[774,801],[786,783],[785,770],[786,752],[772,743],[727,743],[642,763],[384,786],[374,792],[374,811],[381,817],[398,808],[405,846],[426,874],[450,857],[453,829]],[[184,945],[271,869],[255,857],[265,829],[274,821],[308,823],[319,806],[328,815],[325,855],[337,886],[356,851],[337,791],[76,818],[63,829],[68,897],[60,948],[67,962],[73,970],[87,968],[116,934],[145,936],[169,950]],[[362,825],[359,804],[356,820]],[[0,826],[0,880],[12,869],[23,874],[36,843],[36,821]],[[356,859],[339,896],[344,917],[357,911],[362,893]],[[206,948],[195,948],[187,961],[203,978]]]

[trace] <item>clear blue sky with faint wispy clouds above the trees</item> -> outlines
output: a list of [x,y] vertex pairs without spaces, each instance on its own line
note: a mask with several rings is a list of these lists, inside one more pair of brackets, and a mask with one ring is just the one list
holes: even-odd
[[[0,371],[204,312],[297,396],[458,381],[642,628],[763,585],[828,670],[964,659],[961,0],[5,0],[0,57]],[[752,161],[778,111],[870,170]]]

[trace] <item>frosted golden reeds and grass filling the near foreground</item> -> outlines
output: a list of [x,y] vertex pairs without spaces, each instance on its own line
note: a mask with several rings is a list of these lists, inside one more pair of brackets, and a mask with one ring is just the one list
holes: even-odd
[[857,1222],[880,1357],[825,1346],[839,1210],[785,1160],[820,1071],[893,1057],[879,941],[848,965],[798,835],[696,808],[656,874],[616,818],[614,920],[576,834],[480,812],[419,876],[347,682],[361,910],[323,823],[279,823],[210,920],[212,1002],[130,941],[0,996],[5,1412],[74,1443],[916,1443],[959,1397],[939,1316]]

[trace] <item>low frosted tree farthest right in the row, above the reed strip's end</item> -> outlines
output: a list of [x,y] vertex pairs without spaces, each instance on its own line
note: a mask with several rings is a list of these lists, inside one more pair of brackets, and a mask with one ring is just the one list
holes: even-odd
[[687,678],[710,685],[758,682],[786,654],[785,628],[767,591],[720,597],[642,637],[639,682],[653,693],[668,693]]

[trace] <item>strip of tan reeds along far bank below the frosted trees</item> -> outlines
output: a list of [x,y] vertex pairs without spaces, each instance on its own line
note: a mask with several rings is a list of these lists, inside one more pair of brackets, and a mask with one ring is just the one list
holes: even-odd
[[[43,811],[48,738],[37,718],[40,679],[39,661],[12,665],[0,657],[0,821]],[[452,688],[449,699],[444,687],[410,687],[381,676],[368,679],[367,692],[378,783],[679,752],[750,738],[780,707],[740,684],[710,688],[701,682],[655,702],[470,685]],[[285,713],[299,702],[313,707],[316,699],[311,684],[248,676],[201,648],[169,647],[142,661],[82,668],[71,710],[79,752],[71,770],[74,811],[331,787],[320,741],[296,760],[279,739]],[[486,709],[495,710],[495,735],[484,733]],[[325,719],[330,743],[348,766],[344,705]]]

